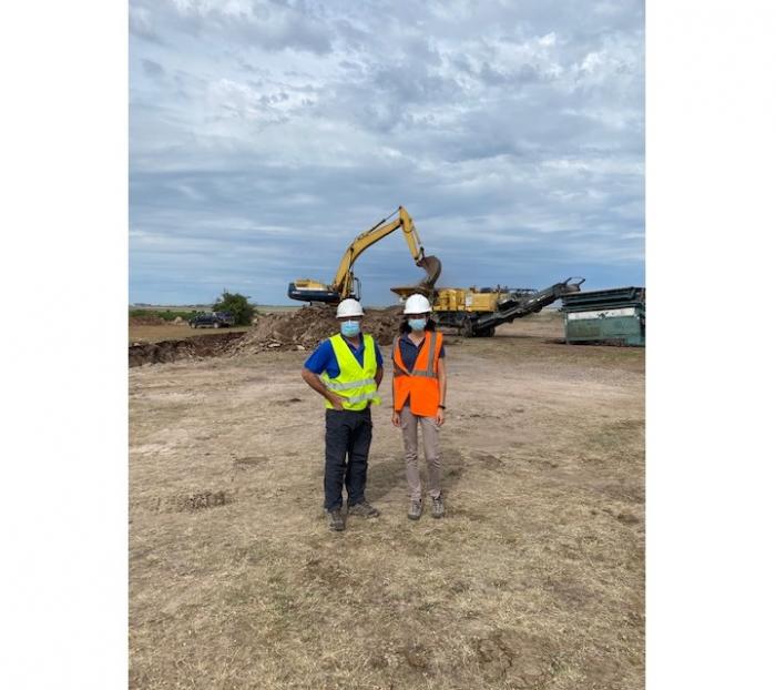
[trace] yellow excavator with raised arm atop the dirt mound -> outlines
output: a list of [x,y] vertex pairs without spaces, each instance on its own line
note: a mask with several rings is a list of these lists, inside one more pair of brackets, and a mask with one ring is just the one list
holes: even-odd
[[[398,214],[398,217],[392,219]],[[399,206],[388,217],[382,219],[369,230],[363,232],[345,250],[339,267],[330,284],[320,283],[310,278],[300,278],[288,284],[288,296],[292,300],[302,302],[329,302],[338,303],[348,297],[361,298],[360,281],[353,274],[353,266],[356,260],[382,237],[389,235],[395,230],[401,227],[409,252],[412,255],[415,265],[423,268],[427,276],[418,284],[419,288],[432,291],[439,274],[442,272],[442,264],[436,256],[426,256],[420,244],[420,237],[415,230],[415,223],[404,206]]]

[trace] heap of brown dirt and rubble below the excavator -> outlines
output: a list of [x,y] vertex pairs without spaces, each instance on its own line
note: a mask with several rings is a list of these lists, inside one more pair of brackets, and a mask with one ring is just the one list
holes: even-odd
[[[267,349],[313,349],[320,341],[339,331],[336,307],[305,306],[290,314],[266,314],[258,317],[254,328],[229,347],[231,354],[264,352]],[[394,342],[401,318],[401,306],[385,310],[365,310],[363,328],[378,344]]]

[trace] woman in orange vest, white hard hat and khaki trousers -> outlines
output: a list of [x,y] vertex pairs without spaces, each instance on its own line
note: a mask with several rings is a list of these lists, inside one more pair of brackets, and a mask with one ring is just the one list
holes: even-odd
[[394,426],[401,428],[407,460],[410,520],[423,511],[418,471],[418,424],[422,427],[423,451],[428,467],[428,494],[431,517],[445,515],[439,459],[439,427],[445,424],[445,345],[429,318],[431,304],[423,295],[411,295],[405,304],[401,333],[394,343]]

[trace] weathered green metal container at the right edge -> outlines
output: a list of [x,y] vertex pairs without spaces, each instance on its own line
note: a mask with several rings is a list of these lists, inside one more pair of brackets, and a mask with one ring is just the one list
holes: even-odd
[[565,342],[643,347],[646,291],[614,287],[563,296]]

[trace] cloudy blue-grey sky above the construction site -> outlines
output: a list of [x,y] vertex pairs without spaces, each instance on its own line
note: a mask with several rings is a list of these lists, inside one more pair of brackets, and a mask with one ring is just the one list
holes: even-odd
[[[642,0],[131,0],[130,301],[290,304],[404,205],[439,285],[644,282]],[[400,232],[367,304],[422,277]]]

